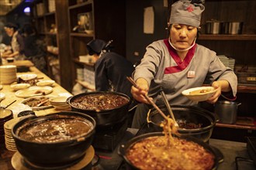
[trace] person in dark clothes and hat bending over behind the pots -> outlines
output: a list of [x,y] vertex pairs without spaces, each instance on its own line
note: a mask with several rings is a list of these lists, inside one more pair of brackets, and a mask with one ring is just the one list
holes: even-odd
[[126,76],[132,76],[134,67],[123,56],[111,52],[111,46],[102,39],[94,39],[87,44],[89,55],[95,57],[95,88],[97,91],[116,91],[132,98],[132,84]]

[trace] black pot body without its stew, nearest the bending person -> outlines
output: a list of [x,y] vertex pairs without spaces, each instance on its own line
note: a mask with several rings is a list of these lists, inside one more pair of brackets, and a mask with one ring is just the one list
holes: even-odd
[[[114,95],[123,97],[123,100],[126,100],[127,102],[126,104],[122,104],[108,110],[83,109],[81,107],[77,107],[74,104],[74,100],[80,97],[92,96],[93,94],[100,94],[102,96],[107,94],[114,94]],[[110,102],[114,102],[114,101],[110,100]],[[73,97],[69,97],[67,99],[67,103],[71,106],[72,110],[92,116],[96,121],[97,128],[104,128],[106,126],[110,126],[110,125],[122,122],[126,119],[126,117],[128,116],[130,97],[128,97],[126,94],[118,93],[118,92],[98,91],[98,92],[80,93]]]

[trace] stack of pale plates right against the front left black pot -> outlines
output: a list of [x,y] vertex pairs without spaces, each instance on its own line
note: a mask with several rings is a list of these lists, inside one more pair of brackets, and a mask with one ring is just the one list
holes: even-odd
[[16,123],[20,121],[22,117],[16,117],[11,119],[10,121],[6,121],[4,128],[5,128],[5,148],[9,151],[17,151],[16,143],[12,138],[12,128]]

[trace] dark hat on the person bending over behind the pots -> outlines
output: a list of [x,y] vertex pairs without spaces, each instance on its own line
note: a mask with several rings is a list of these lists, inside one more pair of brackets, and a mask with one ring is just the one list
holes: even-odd
[[100,54],[102,52],[102,49],[106,46],[106,42],[102,39],[93,39],[92,41],[88,42],[86,47],[88,49],[89,55],[93,54]]

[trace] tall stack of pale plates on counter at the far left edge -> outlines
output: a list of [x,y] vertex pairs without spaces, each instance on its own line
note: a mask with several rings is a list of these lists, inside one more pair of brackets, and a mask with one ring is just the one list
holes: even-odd
[[16,72],[16,66],[0,66],[0,82],[2,82],[2,84],[15,82],[17,80]]

